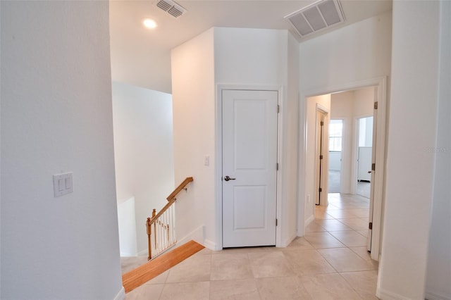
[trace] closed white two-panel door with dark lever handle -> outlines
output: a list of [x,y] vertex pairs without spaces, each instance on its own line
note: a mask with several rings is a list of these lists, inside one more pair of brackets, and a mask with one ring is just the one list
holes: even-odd
[[224,90],[223,247],[276,245],[278,92]]

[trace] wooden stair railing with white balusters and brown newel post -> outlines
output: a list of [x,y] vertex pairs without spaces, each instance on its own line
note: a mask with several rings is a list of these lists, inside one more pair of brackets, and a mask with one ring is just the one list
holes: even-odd
[[147,244],[149,247],[148,260],[159,256],[167,249],[171,248],[177,242],[175,235],[175,196],[182,191],[186,190],[186,186],[192,182],[192,177],[186,177],[178,187],[166,198],[168,204],[166,204],[159,213],[156,213],[154,209],[152,211],[152,218],[147,218]]

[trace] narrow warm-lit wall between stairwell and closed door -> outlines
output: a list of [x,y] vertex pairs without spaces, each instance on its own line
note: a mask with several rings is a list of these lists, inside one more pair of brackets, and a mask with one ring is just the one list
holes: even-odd
[[[177,235],[183,239],[205,226],[203,244],[216,248],[214,29],[173,49],[175,184],[194,177],[177,201]],[[209,165],[204,165],[209,156]]]

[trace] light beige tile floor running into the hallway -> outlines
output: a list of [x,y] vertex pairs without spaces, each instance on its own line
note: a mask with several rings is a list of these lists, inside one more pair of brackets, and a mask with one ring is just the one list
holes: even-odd
[[135,299],[377,299],[366,251],[369,200],[329,194],[286,248],[203,249],[126,295]]

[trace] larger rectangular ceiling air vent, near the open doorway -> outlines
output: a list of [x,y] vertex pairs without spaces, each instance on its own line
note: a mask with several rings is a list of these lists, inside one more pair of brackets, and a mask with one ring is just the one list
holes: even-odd
[[301,37],[345,22],[338,0],[320,0],[290,13],[285,20],[291,23]]

